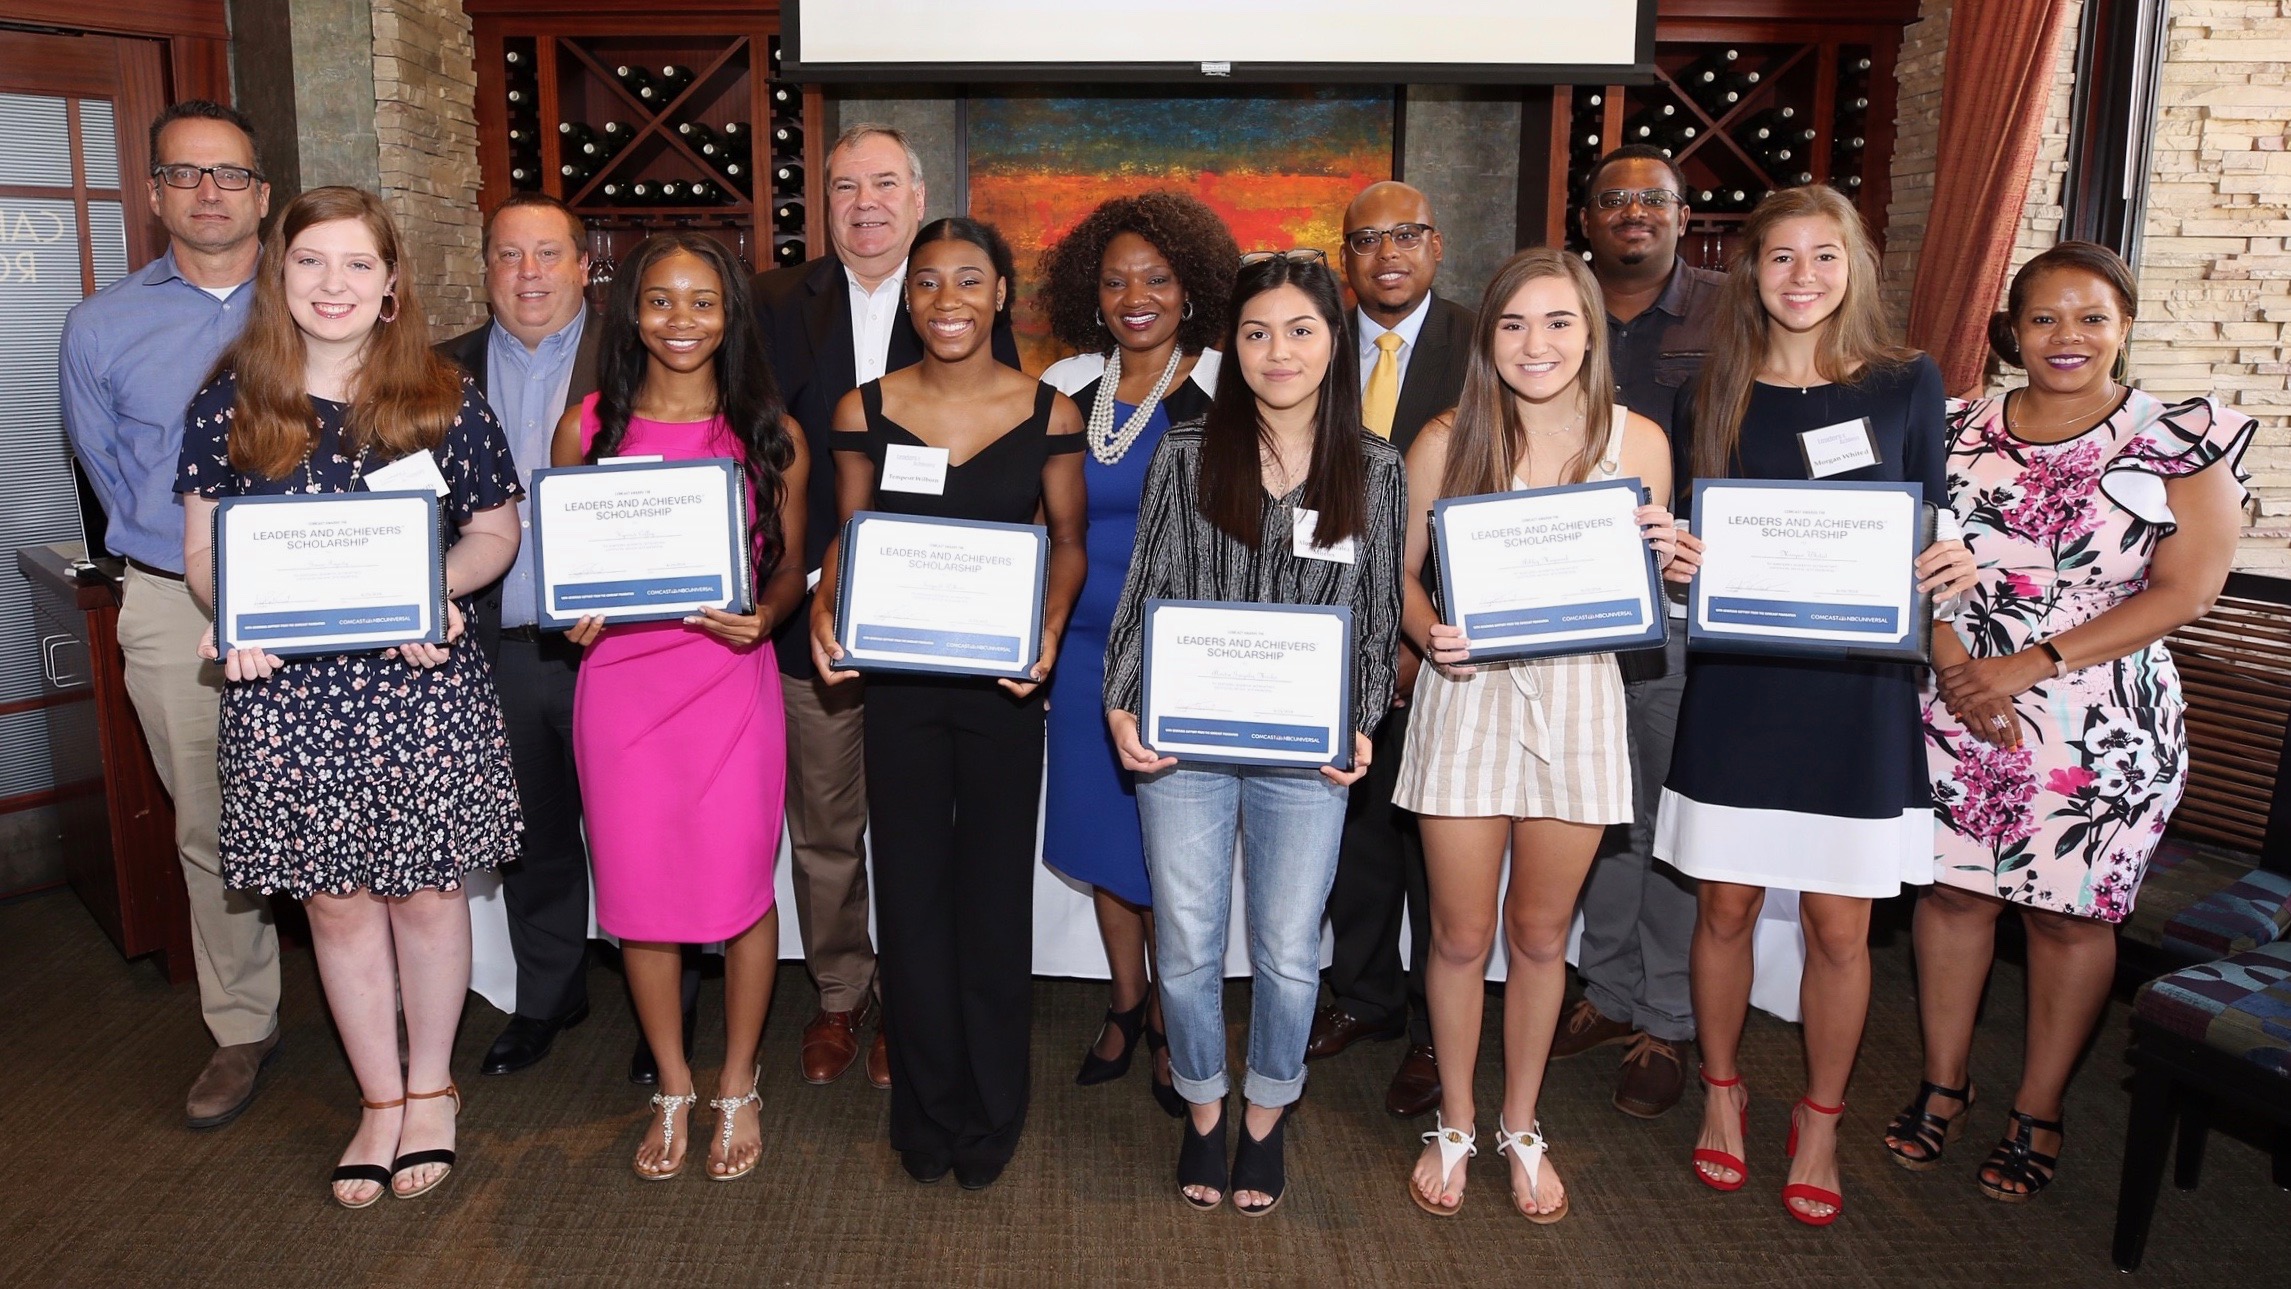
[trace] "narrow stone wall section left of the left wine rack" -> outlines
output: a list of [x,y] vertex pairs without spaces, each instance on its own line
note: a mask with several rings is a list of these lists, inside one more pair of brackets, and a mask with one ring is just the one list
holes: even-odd
[[415,247],[440,337],[486,316],[474,103],[477,48],[458,0],[373,0],[380,192]]

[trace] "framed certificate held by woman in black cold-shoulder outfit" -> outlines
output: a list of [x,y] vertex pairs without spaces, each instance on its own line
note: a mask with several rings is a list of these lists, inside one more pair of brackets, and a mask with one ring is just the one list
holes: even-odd
[[859,511],[836,570],[836,671],[1033,680],[1049,529]]

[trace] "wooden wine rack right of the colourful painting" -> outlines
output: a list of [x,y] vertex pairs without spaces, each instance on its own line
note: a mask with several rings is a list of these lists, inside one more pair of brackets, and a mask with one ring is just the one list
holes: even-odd
[[[1686,9],[1686,7],[1682,7]],[[1686,179],[1691,211],[1679,252],[1725,268],[1741,220],[1776,188],[1831,183],[1883,243],[1890,199],[1895,55],[1915,5],[1849,0],[1835,21],[1773,21],[1803,5],[1661,7],[1654,80],[1562,85],[1530,98],[1521,158],[1521,238],[1585,250],[1576,211],[1590,172],[1615,147],[1663,149]],[[1542,117],[1537,117],[1542,114]]]

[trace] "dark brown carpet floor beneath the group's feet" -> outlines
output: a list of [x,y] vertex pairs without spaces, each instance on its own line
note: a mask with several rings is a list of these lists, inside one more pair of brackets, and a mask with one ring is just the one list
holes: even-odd
[[[1881,923],[1888,923],[1881,918]],[[1950,1163],[1911,1175],[1876,1138],[1915,1085],[1908,936],[1879,932],[1876,1007],[1847,1113],[1847,1213],[1805,1229],[1780,1211],[1796,1035],[1746,1039],[1750,1186],[1688,1177],[1695,1097],[1663,1120],[1606,1106],[1620,1049],[1551,1074],[1544,1124],[1574,1213],[1533,1227],[1505,1204],[1489,1149],[1464,1213],[1402,1193],[1416,1133],[1381,1110],[1398,1044],[1313,1067],[1290,1124],[1290,1195],[1267,1220],[1194,1213],[1173,1195],[1178,1126],[1129,1078],[1074,1088],[1102,987],[1036,991],[1033,1117],[990,1191],[907,1181],[884,1147],[884,1097],[855,1071],[795,1078],[809,1014],[781,975],[765,1035],[765,1165],[715,1186],[699,1163],[630,1177],[644,1092],[623,1083],[632,1023],[619,978],[591,968],[596,1012],[536,1069],[479,1078],[502,1017],[479,1001],[456,1053],[470,1094],[463,1165],[419,1202],[341,1211],[323,1177],[355,1122],[307,952],[286,955],[286,1049],[236,1124],[190,1133],[181,1097],[206,1058],[192,984],[124,964],[69,893],[0,904],[0,1282],[5,1284],[2121,1284],[2108,1264],[2126,1097],[2112,1005],[2069,1099],[2064,1170],[2039,1202],[1973,1188],[2018,1053],[2021,975],[2000,966],[1975,1053],[1984,1110]],[[703,991],[703,1017],[719,1005]],[[1233,987],[1244,1003],[1246,987]],[[1246,1005],[1228,1005],[1246,1017]],[[1489,1007],[1489,1026],[1501,1010]],[[722,1026],[701,1023],[710,1067]],[[1489,1039],[1489,1051],[1494,1037]],[[1482,1106],[1494,1078],[1480,1074]],[[1489,1110],[1489,1120],[1491,1120]],[[1494,1124],[1482,1124],[1491,1129]],[[1485,1133],[1487,1140],[1494,1133]],[[2247,1140],[2213,1138],[2204,1184],[2165,1188],[2142,1284],[2282,1284],[2291,1195]]]

